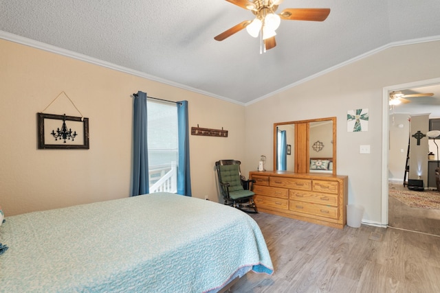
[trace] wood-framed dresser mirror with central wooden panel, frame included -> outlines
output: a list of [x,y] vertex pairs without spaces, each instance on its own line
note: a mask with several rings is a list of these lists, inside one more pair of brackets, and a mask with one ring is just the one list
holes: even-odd
[[336,117],[275,123],[274,170],[336,175]]

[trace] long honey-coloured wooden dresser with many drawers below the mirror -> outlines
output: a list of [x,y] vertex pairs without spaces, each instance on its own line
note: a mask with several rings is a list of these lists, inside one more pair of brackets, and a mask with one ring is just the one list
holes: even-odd
[[347,224],[348,176],[255,171],[249,178],[259,211],[334,228]]

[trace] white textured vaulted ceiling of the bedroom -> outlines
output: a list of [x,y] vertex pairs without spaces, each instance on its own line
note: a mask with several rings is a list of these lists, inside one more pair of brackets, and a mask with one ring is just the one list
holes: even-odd
[[440,36],[439,0],[285,0],[330,8],[324,22],[281,21],[260,54],[254,15],[224,0],[0,0],[0,30],[140,71],[155,80],[246,104],[371,50]]

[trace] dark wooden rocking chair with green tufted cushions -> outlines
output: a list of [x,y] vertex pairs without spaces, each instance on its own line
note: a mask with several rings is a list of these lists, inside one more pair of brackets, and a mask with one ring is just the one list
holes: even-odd
[[215,162],[221,194],[225,204],[246,213],[257,213],[254,192],[250,190],[252,180],[244,180],[244,176],[241,176],[240,164],[240,161],[235,160]]

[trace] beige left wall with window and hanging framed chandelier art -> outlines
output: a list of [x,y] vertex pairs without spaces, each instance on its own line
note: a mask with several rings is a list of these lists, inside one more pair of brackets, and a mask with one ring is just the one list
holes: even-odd
[[[245,153],[244,106],[0,39],[0,205],[5,215],[129,196],[132,93],[188,100],[192,194],[217,200],[214,162]],[[62,91],[89,118],[89,150],[38,150],[36,113]],[[63,95],[45,113],[79,116]],[[225,113],[228,113],[225,115]]]

